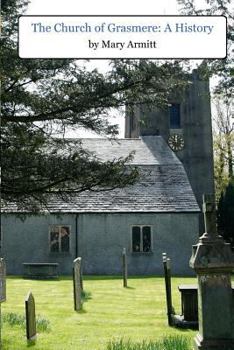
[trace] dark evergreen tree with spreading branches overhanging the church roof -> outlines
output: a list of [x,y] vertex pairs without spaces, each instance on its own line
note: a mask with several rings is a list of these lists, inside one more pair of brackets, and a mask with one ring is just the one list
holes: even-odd
[[[114,60],[110,69],[90,71],[69,59],[20,59],[18,16],[24,0],[2,1],[1,36],[1,195],[20,206],[46,204],[48,193],[72,196],[133,184],[133,155],[101,162],[80,141],[63,136],[85,128],[117,135],[110,109],[137,103],[165,106],[171,91],[187,82],[179,62]],[[56,139],[54,136],[58,135]]]

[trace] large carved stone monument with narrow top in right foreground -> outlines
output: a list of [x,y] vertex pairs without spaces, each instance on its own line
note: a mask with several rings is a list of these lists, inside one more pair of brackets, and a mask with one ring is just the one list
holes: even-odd
[[215,200],[203,196],[205,233],[193,246],[190,266],[198,275],[199,333],[194,349],[234,349],[234,300],[231,288],[231,271],[234,253],[230,245],[218,236],[216,229]]

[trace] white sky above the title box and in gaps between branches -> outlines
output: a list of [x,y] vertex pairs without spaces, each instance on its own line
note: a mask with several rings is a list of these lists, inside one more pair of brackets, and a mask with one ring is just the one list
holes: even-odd
[[[196,0],[199,7],[206,3]],[[176,0],[30,0],[27,15],[176,15],[179,6]],[[107,69],[108,61],[91,60],[90,68],[98,67],[101,71]],[[123,113],[113,112],[112,123],[119,125],[119,137],[124,137]],[[67,132],[67,137],[95,137],[84,130]]]

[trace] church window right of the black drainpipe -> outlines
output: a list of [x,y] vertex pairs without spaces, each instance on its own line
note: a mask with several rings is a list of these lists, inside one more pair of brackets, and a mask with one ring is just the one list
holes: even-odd
[[151,226],[132,226],[132,252],[148,253],[151,251]]

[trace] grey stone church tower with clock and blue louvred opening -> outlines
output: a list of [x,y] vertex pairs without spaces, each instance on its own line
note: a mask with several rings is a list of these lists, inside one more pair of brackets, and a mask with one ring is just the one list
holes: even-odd
[[125,137],[161,135],[184,165],[197,202],[214,193],[213,143],[209,81],[196,70],[191,84],[179,98],[168,101],[168,108],[136,107],[127,111]]

